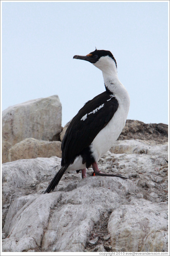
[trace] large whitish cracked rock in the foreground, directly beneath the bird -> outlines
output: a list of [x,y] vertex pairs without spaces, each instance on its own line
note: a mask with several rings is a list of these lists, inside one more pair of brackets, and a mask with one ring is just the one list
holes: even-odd
[[[101,177],[98,180],[100,182]],[[15,241],[17,237],[18,241],[25,238],[25,246],[29,249],[36,249],[30,248],[32,238],[38,246],[42,241],[43,251],[79,251],[81,247],[82,251],[93,223],[99,221],[105,208],[111,204],[115,206],[120,199],[119,195],[108,188],[94,190],[91,177],[81,180],[81,183],[69,192],[16,198],[5,220],[4,230],[8,238],[4,239],[4,248],[8,247],[11,251],[11,239]],[[123,187],[128,185],[124,180],[121,183]],[[132,183],[128,183],[131,191]],[[84,186],[88,189],[85,190]],[[12,251],[15,251],[13,247]]]

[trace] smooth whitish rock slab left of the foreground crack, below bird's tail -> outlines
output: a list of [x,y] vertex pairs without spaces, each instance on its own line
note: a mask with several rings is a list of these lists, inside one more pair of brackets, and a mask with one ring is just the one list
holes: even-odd
[[[34,200],[28,200],[27,203],[12,216],[13,218],[11,219],[12,223],[10,223],[10,227],[8,225],[9,223],[5,223],[4,229],[8,232],[8,238],[5,239],[6,243],[8,244],[8,241],[11,240],[11,238],[17,237],[18,242],[21,244],[22,239],[24,239],[26,248],[35,248],[35,246],[30,247],[30,239],[40,246],[44,227],[48,223],[51,211],[50,207],[53,207],[57,203],[57,199],[58,197],[53,193],[50,195],[47,194],[46,200],[44,200],[44,195],[37,195]],[[14,205],[17,205],[16,201],[14,201],[11,207],[14,208]],[[10,213],[8,216],[10,216]],[[17,251],[17,247],[15,249],[9,247],[8,251]]]

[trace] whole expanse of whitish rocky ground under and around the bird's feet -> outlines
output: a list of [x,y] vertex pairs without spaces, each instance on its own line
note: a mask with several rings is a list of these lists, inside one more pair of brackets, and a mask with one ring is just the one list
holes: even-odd
[[[142,147],[148,145],[143,141]],[[101,171],[127,180],[92,177],[92,168],[85,179],[69,171],[49,194],[43,193],[61,158],[2,164],[3,251],[84,252],[103,250],[100,244],[108,252],[167,251],[168,157],[163,144],[158,145],[160,154],[155,146],[151,141],[151,155],[108,151],[100,158]],[[107,232],[110,238],[104,240]],[[94,238],[96,244],[88,243]]]

